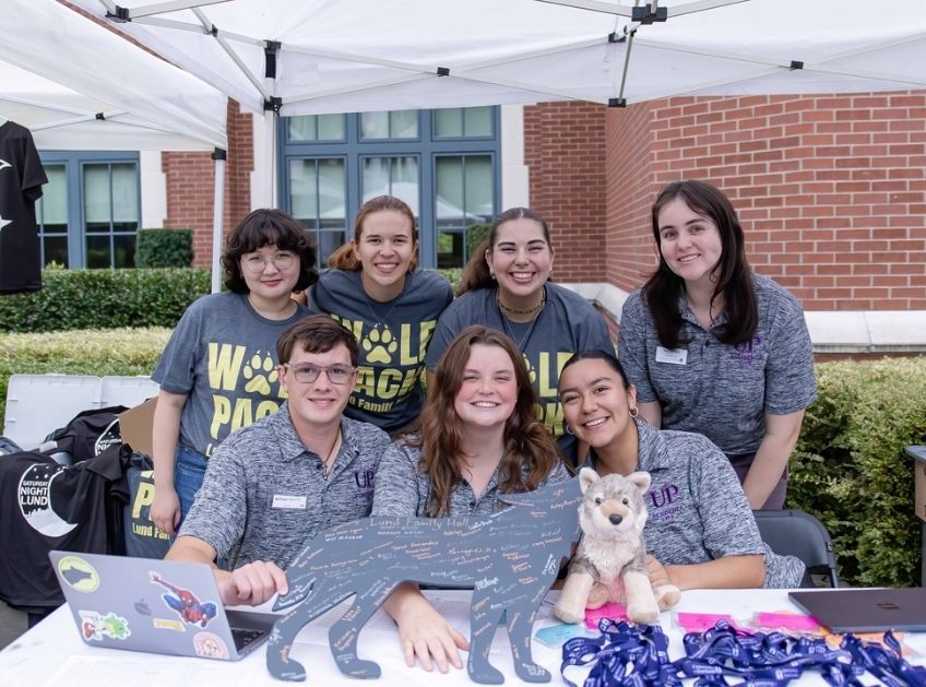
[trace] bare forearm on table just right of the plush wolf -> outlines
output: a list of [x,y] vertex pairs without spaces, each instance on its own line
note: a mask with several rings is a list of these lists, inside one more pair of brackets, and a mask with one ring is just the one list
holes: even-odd
[[653,587],[668,583],[680,590],[752,589],[762,587],[765,579],[764,557],[759,554],[677,566],[663,566],[648,555],[646,569]]

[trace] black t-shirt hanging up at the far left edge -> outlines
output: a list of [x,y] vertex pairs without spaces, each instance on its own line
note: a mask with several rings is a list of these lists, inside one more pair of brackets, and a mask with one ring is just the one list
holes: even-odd
[[0,293],[41,288],[35,201],[47,181],[29,130],[0,125]]

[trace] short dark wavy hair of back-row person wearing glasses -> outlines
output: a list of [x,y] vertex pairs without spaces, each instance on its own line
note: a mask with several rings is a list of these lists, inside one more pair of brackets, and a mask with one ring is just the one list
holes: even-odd
[[299,280],[293,291],[305,291],[318,280],[316,246],[309,233],[281,210],[254,210],[241,220],[225,239],[222,268],[225,286],[236,294],[247,294],[248,283],[241,274],[241,256],[264,246],[276,246],[299,257]]

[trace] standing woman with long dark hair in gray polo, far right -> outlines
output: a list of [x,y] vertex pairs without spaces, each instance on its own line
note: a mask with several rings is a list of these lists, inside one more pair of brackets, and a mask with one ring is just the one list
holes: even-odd
[[804,408],[817,398],[800,305],[752,272],[736,211],[710,183],[666,186],[652,229],[658,268],[625,303],[618,337],[640,415],[703,434],[753,509],[783,508]]

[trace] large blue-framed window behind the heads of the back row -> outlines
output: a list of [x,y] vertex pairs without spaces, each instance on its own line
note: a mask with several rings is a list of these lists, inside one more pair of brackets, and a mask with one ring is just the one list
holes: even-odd
[[401,198],[418,221],[424,266],[462,266],[466,229],[501,196],[498,107],[281,119],[280,205],[309,229],[323,263],[370,198]]

